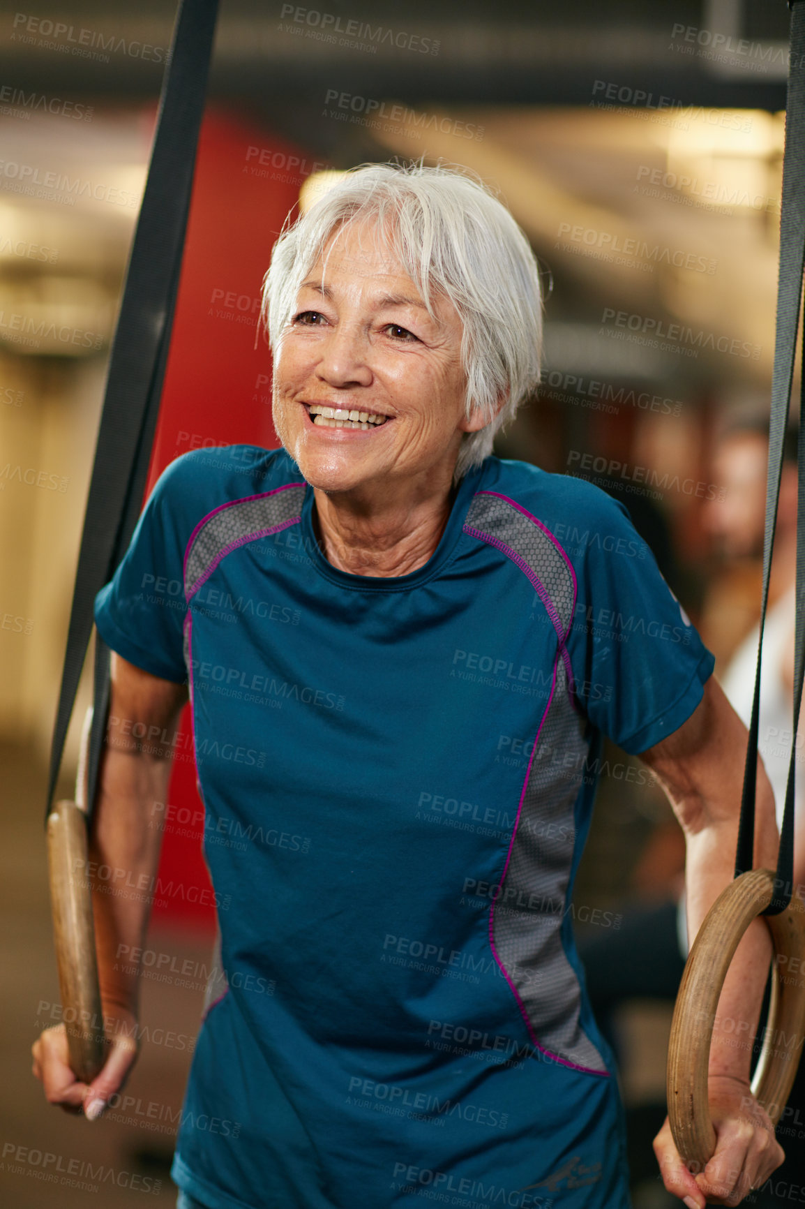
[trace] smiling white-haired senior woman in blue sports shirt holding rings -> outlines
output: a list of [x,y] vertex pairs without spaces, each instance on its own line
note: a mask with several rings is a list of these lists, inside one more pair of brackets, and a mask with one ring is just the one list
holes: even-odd
[[[180,1203],[627,1207],[568,914],[596,754],[609,735],[666,786],[695,932],[731,875],[746,731],[624,509],[491,453],[537,386],[540,296],[482,185],[347,174],[278,241],[265,312],[282,449],[174,462],[95,613],[116,654],[94,851],[141,884],[169,745],[138,748],[131,719],[169,729],[185,684],[193,708],[225,989]],[[147,914],[95,904],[106,1066],[86,1088],[60,1030],[35,1046],[48,1098],[91,1118],[134,1058],[115,954]],[[724,1017],[754,1019],[768,959],[758,924]],[[656,1143],[688,1205],[737,1203],[782,1156],[718,1040],[716,1157],[694,1178],[667,1124]]]

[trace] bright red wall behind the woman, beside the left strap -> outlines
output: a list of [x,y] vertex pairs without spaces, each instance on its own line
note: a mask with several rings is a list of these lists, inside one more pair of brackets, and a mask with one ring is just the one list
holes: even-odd
[[[300,185],[315,167],[323,166],[239,117],[204,117],[147,492],[190,449],[278,444],[268,346],[260,336],[255,347],[260,287]],[[183,729],[160,866],[161,885],[169,889],[157,891],[154,916],[212,929],[189,710]]]

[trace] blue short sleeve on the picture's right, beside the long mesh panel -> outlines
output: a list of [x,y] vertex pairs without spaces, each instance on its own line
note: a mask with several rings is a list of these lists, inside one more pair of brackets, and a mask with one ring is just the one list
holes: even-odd
[[591,503],[567,649],[590,722],[635,754],[690,717],[714,659],[622,504],[597,490]]

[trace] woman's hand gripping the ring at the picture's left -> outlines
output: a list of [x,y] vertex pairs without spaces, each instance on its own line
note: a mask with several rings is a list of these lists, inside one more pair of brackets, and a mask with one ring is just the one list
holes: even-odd
[[133,1012],[122,1007],[104,1011],[106,1060],[92,1083],[82,1083],[70,1069],[66,1028],[57,1024],[45,1029],[31,1046],[34,1075],[40,1080],[48,1104],[65,1112],[83,1112],[97,1121],[112,1095],[121,1091],[139,1053],[138,1023]]

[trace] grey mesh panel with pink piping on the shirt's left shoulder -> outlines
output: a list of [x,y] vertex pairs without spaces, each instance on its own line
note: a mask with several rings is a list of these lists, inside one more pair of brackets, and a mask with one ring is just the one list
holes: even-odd
[[[193,534],[185,560],[185,596],[190,600],[198,580],[205,575],[227,546],[236,546],[249,537],[261,537],[299,520],[305,499],[306,484],[291,484],[279,491],[250,499],[238,499],[210,514]],[[184,658],[187,667],[190,693],[190,613],[184,627]]]

